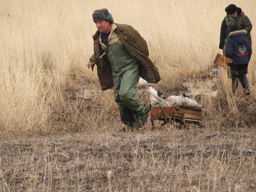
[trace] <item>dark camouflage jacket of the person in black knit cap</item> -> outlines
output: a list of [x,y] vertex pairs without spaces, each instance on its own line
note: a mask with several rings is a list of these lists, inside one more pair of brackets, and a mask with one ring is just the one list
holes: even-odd
[[246,30],[246,38],[248,39],[249,43],[252,45],[252,38],[251,38],[251,30],[252,30],[252,23],[250,19],[242,12],[241,8],[237,10],[237,16],[234,20],[229,19],[229,15],[226,15],[221,24],[221,37],[219,42],[219,48],[223,49],[227,39],[229,38],[229,27],[237,23],[241,30]]

